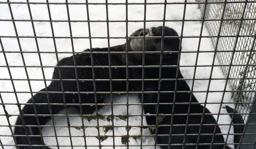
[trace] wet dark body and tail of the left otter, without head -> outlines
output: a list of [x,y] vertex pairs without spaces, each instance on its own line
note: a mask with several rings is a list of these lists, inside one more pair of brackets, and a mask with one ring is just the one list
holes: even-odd
[[[115,46],[110,48],[111,51],[123,51],[123,46]],[[88,49],[87,49],[88,50]],[[108,48],[93,48],[93,51],[108,51]],[[125,65],[121,60],[122,56],[120,54],[111,54],[111,66],[120,66]],[[75,55],[76,66],[92,66],[91,63],[91,54],[76,54]],[[108,54],[93,54],[93,64],[94,66],[109,66],[108,63]],[[73,56],[63,58],[60,60],[60,66],[74,66]],[[61,78],[62,79],[93,79],[92,68],[76,68],[77,69],[77,78],[75,73],[75,68],[60,68]],[[112,79],[126,79],[126,69],[125,68],[115,68],[111,69]],[[109,68],[94,68],[95,79],[109,79]],[[58,68],[54,69],[53,79],[60,79],[60,74]],[[76,81],[62,81],[63,82],[63,91],[64,92],[78,92],[77,82]],[[80,92],[94,92],[93,81],[79,81],[79,91]],[[110,92],[110,82],[109,81],[96,81],[96,92]],[[112,91],[121,92],[126,91],[126,81],[112,81]],[[46,89],[40,90],[40,92],[45,92]],[[49,86],[47,86],[47,91],[49,92],[62,92],[60,81],[52,81]],[[84,104],[95,104],[94,94],[80,93],[81,102]],[[76,104],[79,104],[78,94],[75,93],[65,93],[65,101],[67,104],[72,104],[73,99]],[[97,96],[97,99],[100,99],[101,95]],[[46,93],[36,93],[34,96],[34,103],[48,103]],[[50,103],[59,103],[64,104],[62,93],[49,93]],[[103,100],[99,100],[102,103]],[[32,98],[28,100],[27,103],[33,103]],[[72,106],[67,106],[67,108]],[[79,106],[73,106],[78,108]],[[40,115],[50,115],[48,105],[36,105],[35,106],[37,114]],[[98,106],[98,109],[101,106]],[[63,105],[57,106],[52,105],[52,114],[58,114],[61,110],[64,109]],[[82,106],[83,114],[90,114],[95,111],[95,106]],[[25,105],[22,109],[23,114],[35,114],[34,107],[32,105]],[[25,125],[38,125],[36,116],[24,116]],[[38,116],[39,124],[45,125],[49,120],[50,116]],[[22,125],[22,127],[16,126],[14,128],[14,135],[26,135],[25,129],[20,117],[18,117],[15,125]],[[43,127],[41,127],[43,128]],[[29,131],[32,130],[32,131]],[[28,135],[40,135],[38,127],[27,127]],[[27,137],[15,137],[17,145],[29,145]],[[29,137],[31,145],[44,145],[40,137]],[[20,149],[29,149],[29,146],[19,146]],[[49,147],[46,147],[50,149]],[[34,149],[43,149],[43,146],[35,146]]]

